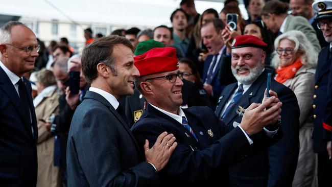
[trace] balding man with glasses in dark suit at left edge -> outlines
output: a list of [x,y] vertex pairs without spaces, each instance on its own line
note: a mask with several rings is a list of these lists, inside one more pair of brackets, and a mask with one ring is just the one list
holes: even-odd
[[38,129],[31,84],[22,77],[38,57],[35,34],[18,21],[0,28],[0,185],[36,186]]

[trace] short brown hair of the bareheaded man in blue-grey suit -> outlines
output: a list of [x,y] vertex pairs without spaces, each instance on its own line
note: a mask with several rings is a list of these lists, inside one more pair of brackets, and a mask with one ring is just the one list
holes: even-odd
[[106,64],[111,68],[113,75],[117,75],[113,54],[113,49],[116,45],[125,45],[134,52],[134,46],[129,40],[123,36],[116,35],[95,39],[92,43],[85,46],[81,62],[83,74],[89,84],[97,78],[97,65],[99,63]]

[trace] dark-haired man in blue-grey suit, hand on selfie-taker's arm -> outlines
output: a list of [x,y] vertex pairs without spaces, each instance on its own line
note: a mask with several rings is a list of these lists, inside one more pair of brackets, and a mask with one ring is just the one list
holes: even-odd
[[133,50],[130,41],[119,36],[96,39],[83,50],[82,69],[91,87],[70,125],[68,186],[159,184],[157,172],[177,143],[173,134],[162,132],[151,149],[146,141],[144,157],[122,118],[123,106],[117,100],[133,94],[134,77],[139,76]]

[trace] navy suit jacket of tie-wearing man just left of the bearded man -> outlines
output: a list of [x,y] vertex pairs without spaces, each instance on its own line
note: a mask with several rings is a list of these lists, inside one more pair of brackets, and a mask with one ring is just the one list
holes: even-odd
[[[206,57],[206,60],[204,61],[204,68],[203,68],[203,75],[202,75],[202,82],[203,83],[205,82],[205,79],[207,77],[207,71],[208,71],[208,68],[210,66],[210,63],[212,63],[212,58],[213,57],[214,57],[213,55],[209,55],[209,56]],[[223,90],[223,88],[225,87],[225,85],[220,83],[219,77],[218,77],[219,69],[221,67],[221,64],[223,63],[224,58],[226,58],[226,55],[222,54],[220,59],[219,59],[219,63],[218,63],[218,66],[216,68],[216,71],[212,75],[213,78],[212,78],[211,86],[212,86],[212,91],[213,91],[214,96],[211,98],[211,101],[214,102],[214,103],[217,102],[217,99],[218,99],[218,96],[220,95],[221,90]],[[213,108],[215,108],[215,107],[213,107]]]

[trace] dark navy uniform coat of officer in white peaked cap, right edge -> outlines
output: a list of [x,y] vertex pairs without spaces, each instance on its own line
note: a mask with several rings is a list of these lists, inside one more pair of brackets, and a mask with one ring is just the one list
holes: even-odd
[[[330,74],[331,61],[329,60],[329,46],[326,46],[318,55],[318,64],[315,74],[315,95],[314,99],[314,152],[327,156],[326,141],[331,133],[323,128],[322,122],[327,103],[327,85]],[[316,118],[315,118],[316,116]]]

